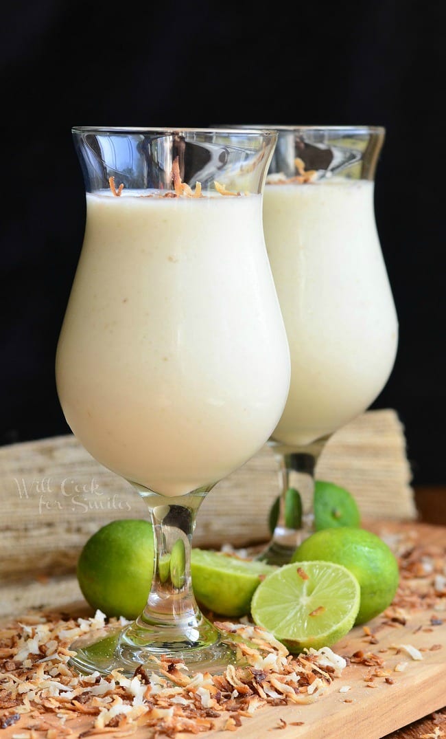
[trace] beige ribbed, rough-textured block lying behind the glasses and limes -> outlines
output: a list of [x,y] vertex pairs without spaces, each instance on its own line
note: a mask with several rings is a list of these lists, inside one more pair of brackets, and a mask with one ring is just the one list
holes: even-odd
[[[391,409],[368,411],[336,432],[316,473],[349,488],[364,518],[417,518],[404,429]],[[130,484],[97,463],[72,435],[1,447],[0,490],[0,582],[73,572],[97,528],[146,516]],[[194,544],[265,541],[278,491],[276,461],[265,446],[209,493]],[[309,510],[309,500],[304,508]]]

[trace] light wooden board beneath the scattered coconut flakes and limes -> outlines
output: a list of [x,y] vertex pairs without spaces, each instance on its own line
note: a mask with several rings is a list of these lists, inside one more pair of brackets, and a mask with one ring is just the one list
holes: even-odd
[[[376,523],[368,528],[374,528],[384,537],[402,533],[409,536],[414,545],[439,546],[445,563],[446,528],[394,522]],[[407,587],[411,581],[405,579],[404,582]],[[414,578],[414,590],[418,585],[422,586],[422,582],[422,577]],[[78,607],[85,609],[85,604],[80,603]],[[405,616],[405,622],[402,618],[392,621],[379,616],[369,621],[366,628],[355,627],[332,647],[346,658],[352,658],[358,652],[366,656],[372,653],[383,660],[380,667],[349,664],[341,678],[335,678],[315,703],[263,707],[252,718],[243,718],[237,735],[243,739],[270,739],[271,731],[279,730],[281,739],[319,739],[324,736],[345,739],[351,735],[359,739],[380,739],[441,709],[446,705],[446,596],[436,599],[436,610],[432,607],[406,607]],[[416,647],[422,659],[412,658],[404,645]],[[373,678],[374,670],[378,676]],[[29,722],[25,716],[19,723],[1,731],[0,737],[13,739],[29,726],[32,726],[32,721]],[[66,726],[74,729],[73,736],[78,737],[91,728],[91,718],[77,718],[67,722]],[[26,735],[25,732],[23,736]],[[217,728],[200,735],[203,739],[220,739],[229,736],[229,732]],[[35,734],[36,739],[43,736]],[[94,736],[117,738],[122,733],[110,732],[109,729],[106,733],[95,732]],[[152,735],[141,728],[131,736],[149,739]],[[181,733],[176,738],[187,739],[190,736]]]

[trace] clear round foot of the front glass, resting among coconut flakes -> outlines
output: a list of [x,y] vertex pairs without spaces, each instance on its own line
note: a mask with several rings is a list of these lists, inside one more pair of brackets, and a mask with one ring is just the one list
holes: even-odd
[[[133,677],[136,670],[166,675],[170,662],[181,660],[189,672],[223,674],[229,664],[242,664],[237,651],[223,641],[223,635],[206,619],[201,624],[200,638],[189,641],[165,640],[147,643],[144,629],[134,622],[128,626],[105,627],[76,639],[70,650],[76,655],[69,659],[69,666],[83,675],[100,672],[110,675],[114,670],[126,677]],[[139,636],[139,638],[138,638]],[[178,635],[177,635],[178,636]],[[146,643],[143,644],[142,641]]]

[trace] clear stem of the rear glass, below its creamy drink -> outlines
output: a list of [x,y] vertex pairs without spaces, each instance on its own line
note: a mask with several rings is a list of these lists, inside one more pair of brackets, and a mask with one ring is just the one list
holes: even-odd
[[262,562],[270,565],[290,562],[293,552],[305,536],[303,528],[290,527],[285,499],[289,488],[296,488],[302,500],[313,501],[316,464],[327,440],[328,437],[322,437],[308,446],[293,448],[271,443],[279,465],[279,512],[271,542],[257,556]]

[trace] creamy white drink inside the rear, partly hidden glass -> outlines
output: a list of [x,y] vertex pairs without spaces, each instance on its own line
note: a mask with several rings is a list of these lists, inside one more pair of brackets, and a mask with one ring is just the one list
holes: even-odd
[[366,410],[394,365],[398,324],[374,183],[267,184],[263,222],[291,355],[272,437],[307,445]]

